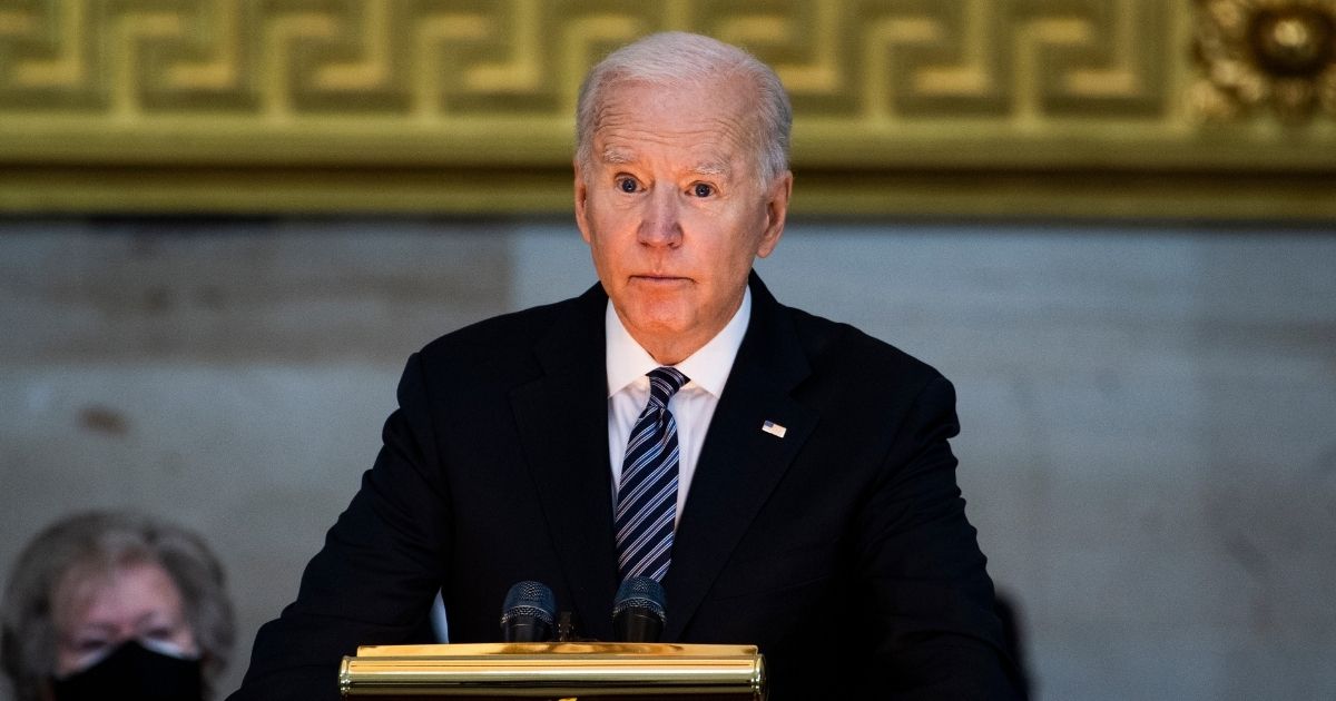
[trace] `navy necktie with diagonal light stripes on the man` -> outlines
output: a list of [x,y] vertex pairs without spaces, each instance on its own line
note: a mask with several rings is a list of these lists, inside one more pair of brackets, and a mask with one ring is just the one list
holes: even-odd
[[649,403],[631,429],[617,489],[617,567],[621,578],[663,581],[672,557],[677,511],[677,422],[668,399],[687,375],[672,367],[649,371]]

